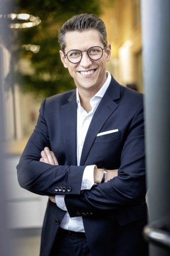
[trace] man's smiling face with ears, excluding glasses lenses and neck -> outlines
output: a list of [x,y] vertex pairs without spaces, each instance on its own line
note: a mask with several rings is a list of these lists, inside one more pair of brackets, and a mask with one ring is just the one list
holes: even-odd
[[[90,47],[99,46],[104,48],[104,45],[99,39],[99,33],[95,29],[86,30],[83,32],[67,32],[65,34],[65,54],[68,51],[77,49],[87,51]],[[76,64],[68,61],[64,53],[60,50],[60,57],[65,68],[68,71],[79,90],[79,93],[88,90],[92,95],[102,87],[106,81],[106,62],[110,60],[111,45],[103,50],[102,58],[97,61],[91,60],[87,52],[82,52],[82,59]],[[88,72],[88,73],[87,73]]]

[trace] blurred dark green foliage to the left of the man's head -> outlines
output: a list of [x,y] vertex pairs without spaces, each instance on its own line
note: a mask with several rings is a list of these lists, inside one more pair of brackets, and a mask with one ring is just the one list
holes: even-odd
[[[16,29],[19,38],[18,56],[31,61],[34,72],[20,74],[18,83],[23,91],[45,97],[75,88],[73,79],[62,65],[57,41],[58,29],[73,15],[101,14],[100,0],[17,0],[15,13],[40,17],[42,22],[32,28]],[[40,45],[40,51],[26,51],[22,45]],[[20,70],[20,68],[19,68]]]

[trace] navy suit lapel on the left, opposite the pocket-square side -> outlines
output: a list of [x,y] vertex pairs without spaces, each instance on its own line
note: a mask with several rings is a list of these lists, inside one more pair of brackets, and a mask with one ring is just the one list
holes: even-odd
[[61,106],[62,134],[68,165],[77,165],[77,102],[74,90],[68,103]]

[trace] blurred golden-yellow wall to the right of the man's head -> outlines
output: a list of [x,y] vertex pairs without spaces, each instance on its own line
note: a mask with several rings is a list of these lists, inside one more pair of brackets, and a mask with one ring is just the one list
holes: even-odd
[[106,0],[101,18],[112,47],[108,70],[120,84],[136,85],[143,92],[140,1]]

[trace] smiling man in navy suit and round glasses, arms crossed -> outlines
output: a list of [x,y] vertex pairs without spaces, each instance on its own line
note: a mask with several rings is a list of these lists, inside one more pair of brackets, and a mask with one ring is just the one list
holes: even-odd
[[20,186],[50,197],[40,255],[146,256],[142,94],[106,71],[97,16],[72,17],[59,43],[77,89],[42,102],[17,166]]

